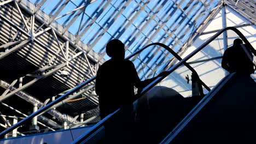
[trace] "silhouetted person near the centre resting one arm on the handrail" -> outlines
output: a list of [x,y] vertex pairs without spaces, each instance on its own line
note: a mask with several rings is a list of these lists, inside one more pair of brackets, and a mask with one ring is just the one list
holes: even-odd
[[[98,95],[101,119],[121,107],[119,115],[121,119],[104,125],[106,137],[113,143],[113,139],[122,140],[124,135],[127,138],[131,133],[132,103],[135,100],[134,87],[141,89],[156,77],[145,81],[139,79],[135,65],[125,59],[124,44],[120,40],[110,40],[107,43],[106,52],[111,59],[98,68],[95,90]],[[114,125],[119,125],[122,131],[115,129]],[[113,132],[114,135],[110,134]],[[125,141],[130,143],[129,139]]]

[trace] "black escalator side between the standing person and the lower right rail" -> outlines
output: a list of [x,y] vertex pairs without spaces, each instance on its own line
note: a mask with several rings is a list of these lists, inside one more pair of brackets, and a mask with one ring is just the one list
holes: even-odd
[[159,143],[200,100],[201,97],[184,98],[172,88],[153,87],[138,99],[135,143]]

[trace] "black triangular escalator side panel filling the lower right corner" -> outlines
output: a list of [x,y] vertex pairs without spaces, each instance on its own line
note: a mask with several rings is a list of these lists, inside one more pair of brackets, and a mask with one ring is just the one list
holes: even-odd
[[171,143],[255,143],[255,103],[256,83],[235,74]]

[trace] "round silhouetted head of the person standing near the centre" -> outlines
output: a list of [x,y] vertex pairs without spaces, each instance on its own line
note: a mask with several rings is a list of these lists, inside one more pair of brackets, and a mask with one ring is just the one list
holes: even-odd
[[109,57],[124,59],[125,48],[122,41],[118,39],[112,39],[108,41],[106,46],[106,52]]

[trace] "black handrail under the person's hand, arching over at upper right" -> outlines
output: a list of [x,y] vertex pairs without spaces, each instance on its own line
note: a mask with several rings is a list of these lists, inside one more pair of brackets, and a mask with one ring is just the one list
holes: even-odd
[[[180,67],[182,64],[184,65],[189,65],[186,62],[188,61],[189,58],[193,57],[194,55],[196,55],[197,52],[201,51],[204,47],[206,47],[208,44],[210,44],[214,39],[216,39],[220,34],[222,34],[224,31],[227,30],[231,30],[234,31],[243,41],[245,41],[245,43],[247,44],[247,46],[249,46],[249,49],[254,53],[254,55],[256,56],[256,51],[254,50],[253,46],[249,43],[249,41],[246,39],[246,37],[240,32],[238,31],[238,29],[236,29],[235,27],[226,27],[224,29],[222,29],[221,31],[219,31],[218,33],[216,33],[215,35],[213,35],[210,39],[208,39],[205,43],[203,43],[200,47],[198,47],[196,50],[194,50],[193,52],[191,52],[187,57],[181,59],[177,64],[173,65],[171,68],[169,68],[168,74],[171,74],[174,70],[176,70],[178,67]],[[154,44],[160,44],[160,43],[154,43]],[[150,44],[152,45],[152,44]],[[162,44],[164,45],[164,44]],[[160,44],[161,46],[161,44]],[[146,46],[147,48],[148,46]],[[144,47],[145,48],[145,47]],[[145,48],[145,49],[146,49]],[[143,49],[141,49],[142,51]],[[134,56],[134,55],[133,55]],[[174,57],[177,56],[177,53],[173,55]],[[178,56],[179,57],[179,56]],[[177,57],[176,57],[177,58]],[[177,58],[179,59],[179,58]],[[190,67],[190,65],[189,65]],[[188,68],[189,68],[188,67]],[[193,69],[193,68],[192,68]],[[193,70],[191,70],[193,71]],[[195,73],[197,75],[197,73]],[[166,75],[166,76],[167,76]],[[166,76],[162,76],[162,77],[158,77],[158,79],[154,80],[152,83],[150,83],[147,87],[145,87],[142,92],[139,95],[143,95],[145,94],[149,89],[151,89],[152,87],[154,87],[157,83],[159,83],[161,80],[163,80]],[[203,83],[202,83],[203,84]],[[84,133],[83,135],[79,136],[78,139],[76,139],[74,143],[83,143],[84,140],[88,139],[88,137],[90,137],[91,134],[93,134],[98,128],[101,128],[104,121],[106,121],[106,119],[108,119],[109,117],[115,115],[115,113],[117,113],[120,109],[118,109],[117,111],[111,113],[108,117],[105,117],[104,119],[102,119],[102,121],[98,122],[96,125],[94,125],[94,127],[92,127],[91,129],[89,129],[88,131],[86,131],[86,133]]]

